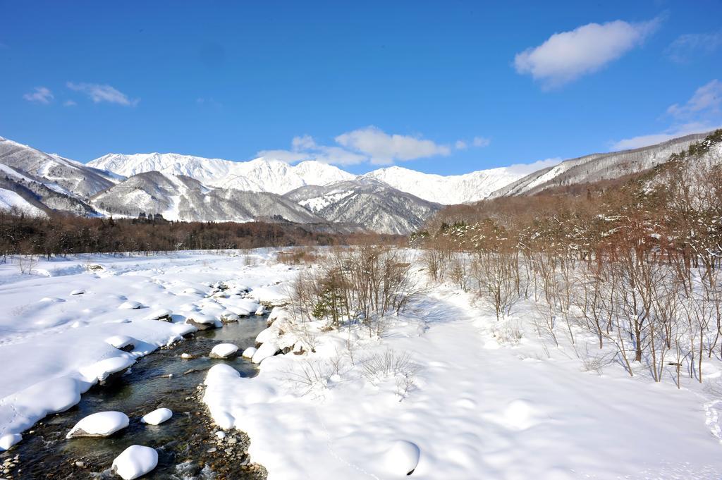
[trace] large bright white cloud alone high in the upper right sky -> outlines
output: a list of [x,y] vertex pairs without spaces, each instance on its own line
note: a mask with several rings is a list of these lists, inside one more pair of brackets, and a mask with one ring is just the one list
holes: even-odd
[[590,23],[570,32],[554,33],[544,43],[517,53],[519,74],[531,74],[544,88],[559,87],[601,69],[650,35],[661,19],[629,23],[622,20]]

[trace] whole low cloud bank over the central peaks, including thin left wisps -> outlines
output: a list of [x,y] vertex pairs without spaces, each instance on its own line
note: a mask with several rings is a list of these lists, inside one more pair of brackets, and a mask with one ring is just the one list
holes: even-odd
[[261,150],[258,156],[284,162],[317,160],[335,165],[391,165],[394,162],[451,154],[448,145],[437,144],[420,136],[386,134],[374,126],[349,131],[336,136],[334,140],[336,145],[319,145],[312,136],[296,136],[291,141],[290,150]]

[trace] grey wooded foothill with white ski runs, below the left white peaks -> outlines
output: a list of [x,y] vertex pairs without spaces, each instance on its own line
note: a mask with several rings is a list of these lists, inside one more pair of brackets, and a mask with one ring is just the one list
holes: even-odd
[[144,172],[97,193],[91,203],[108,215],[161,214],[185,222],[324,222],[299,204],[275,193],[211,188],[184,175]]

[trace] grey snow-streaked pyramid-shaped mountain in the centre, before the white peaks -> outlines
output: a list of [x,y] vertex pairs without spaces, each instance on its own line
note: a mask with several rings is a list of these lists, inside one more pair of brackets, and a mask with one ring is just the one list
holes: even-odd
[[329,222],[348,222],[380,233],[406,235],[442,208],[375,178],[305,186],[284,197]]

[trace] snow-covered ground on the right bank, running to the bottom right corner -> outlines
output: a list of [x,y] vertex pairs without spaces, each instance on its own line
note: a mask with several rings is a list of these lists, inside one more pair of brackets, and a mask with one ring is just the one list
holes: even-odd
[[[525,305],[503,320],[524,331],[521,343],[503,344],[492,312],[433,285],[381,339],[344,327],[319,333],[316,353],[265,357],[255,378],[212,367],[204,402],[220,428],[248,432],[269,480],[401,479],[416,455],[411,478],[427,480],[720,478],[722,379],[677,390],[617,364],[583,372],[570,344],[544,353],[523,323],[532,314]],[[278,308],[271,317],[289,318]],[[261,332],[258,352],[283,341],[273,330]],[[389,350],[414,365],[401,394],[399,378],[362,373]]]

